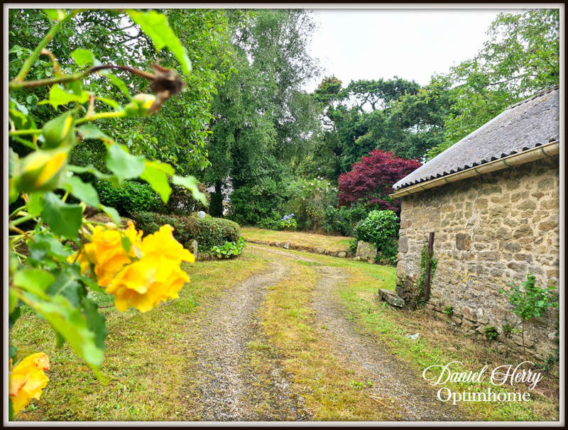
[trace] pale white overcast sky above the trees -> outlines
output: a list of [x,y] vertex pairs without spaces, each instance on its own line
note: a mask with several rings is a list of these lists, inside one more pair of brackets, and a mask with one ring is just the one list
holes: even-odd
[[[435,72],[473,57],[486,40],[498,13],[512,9],[388,10],[316,9],[319,28],[312,57],[323,76],[335,75],[343,86],[351,79],[398,76],[425,85]],[[519,11],[518,9],[516,11]],[[321,82],[310,82],[309,92]]]

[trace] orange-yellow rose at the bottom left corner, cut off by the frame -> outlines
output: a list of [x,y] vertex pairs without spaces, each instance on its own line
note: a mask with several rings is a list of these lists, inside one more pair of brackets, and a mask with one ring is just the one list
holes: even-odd
[[[10,360],[11,367],[11,360]],[[31,399],[39,399],[49,378],[43,373],[49,370],[49,358],[45,353],[35,353],[21,360],[9,375],[9,394],[13,413],[21,411]]]

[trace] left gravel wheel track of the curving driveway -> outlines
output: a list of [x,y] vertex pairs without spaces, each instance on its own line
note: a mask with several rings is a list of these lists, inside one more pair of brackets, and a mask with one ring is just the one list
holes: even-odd
[[[247,347],[263,337],[256,312],[266,287],[282,281],[289,268],[271,263],[265,272],[232,287],[209,307],[197,333],[195,371],[188,397],[200,399],[194,415],[203,421],[295,421],[307,419],[302,399],[293,397],[290,384],[269,348]],[[230,276],[230,274],[227,274]],[[252,358],[263,363],[258,374]],[[252,358],[251,358],[252,357]],[[267,369],[268,368],[268,369]]]

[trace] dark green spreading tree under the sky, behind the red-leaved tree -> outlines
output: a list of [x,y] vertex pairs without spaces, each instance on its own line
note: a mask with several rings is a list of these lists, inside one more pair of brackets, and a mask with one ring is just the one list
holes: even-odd
[[324,131],[304,172],[322,172],[329,180],[351,168],[372,150],[392,151],[404,158],[422,157],[442,141],[445,89],[420,85],[398,77],[351,81],[341,88],[326,77],[313,97],[324,111]]

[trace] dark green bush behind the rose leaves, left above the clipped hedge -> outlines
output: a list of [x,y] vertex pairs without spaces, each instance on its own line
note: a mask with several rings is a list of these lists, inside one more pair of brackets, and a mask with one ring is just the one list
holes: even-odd
[[113,187],[110,182],[96,181],[93,185],[100,202],[114,207],[123,216],[136,211],[158,211],[162,207],[160,196],[146,182],[124,181],[121,187]]

